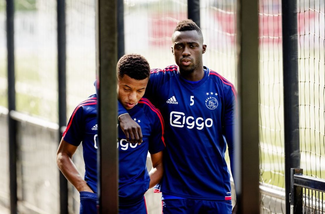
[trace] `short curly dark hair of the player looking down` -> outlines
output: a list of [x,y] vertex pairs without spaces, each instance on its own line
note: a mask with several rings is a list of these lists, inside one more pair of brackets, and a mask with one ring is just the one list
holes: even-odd
[[136,80],[150,77],[149,62],[143,56],[135,53],[125,54],[117,62],[117,78],[123,78],[124,74]]

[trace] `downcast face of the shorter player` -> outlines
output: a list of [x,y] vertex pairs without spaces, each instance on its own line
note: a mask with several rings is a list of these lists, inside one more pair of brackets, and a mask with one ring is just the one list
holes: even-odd
[[117,98],[125,109],[133,108],[144,95],[149,78],[136,80],[124,74],[123,78],[118,78]]

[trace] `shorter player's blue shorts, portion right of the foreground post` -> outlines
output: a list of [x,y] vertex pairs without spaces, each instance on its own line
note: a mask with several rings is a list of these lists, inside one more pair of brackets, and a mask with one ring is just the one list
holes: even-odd
[[146,199],[141,197],[136,201],[119,203],[119,214],[148,214]]

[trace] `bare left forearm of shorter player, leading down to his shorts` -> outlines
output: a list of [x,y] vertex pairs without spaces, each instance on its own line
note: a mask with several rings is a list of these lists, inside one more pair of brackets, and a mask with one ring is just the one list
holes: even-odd
[[69,157],[67,154],[59,153],[57,155],[57,164],[62,174],[79,192],[93,192],[83,177],[79,174],[77,167],[72,162],[71,157]]

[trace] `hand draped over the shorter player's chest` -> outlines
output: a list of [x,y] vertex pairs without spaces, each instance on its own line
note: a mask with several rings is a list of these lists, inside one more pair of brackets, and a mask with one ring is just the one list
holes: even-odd
[[130,143],[142,143],[142,132],[139,124],[134,121],[129,114],[124,114],[119,117],[120,126],[125,134],[126,141]]

